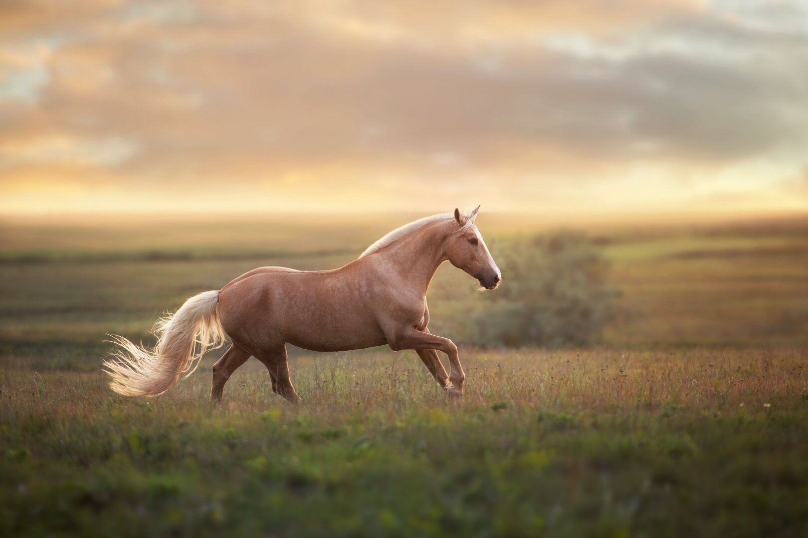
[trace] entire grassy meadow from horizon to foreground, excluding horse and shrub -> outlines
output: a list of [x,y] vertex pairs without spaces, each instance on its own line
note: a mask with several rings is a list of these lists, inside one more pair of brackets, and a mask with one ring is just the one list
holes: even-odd
[[[587,349],[474,348],[440,269],[450,402],[414,352],[291,353],[304,405],[212,352],[122,398],[107,333],[259,265],[335,267],[408,217],[0,226],[2,536],[804,536],[808,221],[591,225],[620,296]],[[482,218],[498,241],[542,223]],[[507,286],[507,275],[503,285]]]

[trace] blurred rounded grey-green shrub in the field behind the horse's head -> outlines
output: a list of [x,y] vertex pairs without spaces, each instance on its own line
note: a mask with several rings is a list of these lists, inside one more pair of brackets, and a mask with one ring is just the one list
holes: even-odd
[[470,341],[563,347],[600,336],[616,293],[608,286],[608,261],[587,236],[554,231],[501,245],[495,258],[503,286],[486,293],[470,317]]

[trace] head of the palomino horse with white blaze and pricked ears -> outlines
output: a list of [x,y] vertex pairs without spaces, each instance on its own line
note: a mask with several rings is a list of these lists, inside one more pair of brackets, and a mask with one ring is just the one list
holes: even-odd
[[499,282],[502,282],[503,275],[488,252],[482,235],[474,226],[474,217],[479,209],[480,206],[477,206],[469,215],[462,215],[460,210],[455,210],[458,229],[448,238],[446,255],[452,265],[476,278],[480,286],[486,290],[495,290]]

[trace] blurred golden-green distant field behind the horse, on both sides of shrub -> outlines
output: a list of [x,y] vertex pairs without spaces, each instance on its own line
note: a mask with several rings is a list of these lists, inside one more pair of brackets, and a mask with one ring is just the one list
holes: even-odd
[[[162,311],[261,265],[337,267],[415,216],[5,223],[0,351],[34,361],[75,355],[95,367],[107,333],[139,339]],[[546,229],[501,215],[481,215],[479,224],[494,256],[499,240]],[[808,219],[587,231],[621,292],[604,345],[808,343]],[[462,340],[480,300],[473,286],[448,264],[440,269],[429,294],[434,332]]]

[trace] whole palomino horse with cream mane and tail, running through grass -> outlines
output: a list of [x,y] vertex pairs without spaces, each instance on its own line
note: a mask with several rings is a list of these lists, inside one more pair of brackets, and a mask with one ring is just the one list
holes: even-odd
[[[221,347],[226,333],[233,344],[213,365],[214,401],[250,356],[267,366],[276,394],[300,401],[289,378],[286,344],[311,351],[383,344],[393,351],[415,349],[440,386],[461,396],[465,373],[457,346],[427,329],[427,287],[447,260],[487,290],[499,286],[502,273],[474,226],[479,208],[406,224],[339,269],[260,267],[221,290],[195,295],[154,327],[154,350],[113,336],[116,352],[104,361],[110,387],[125,396],[162,394],[183,372],[190,375],[207,349]],[[448,357],[448,375],[436,350]]]

